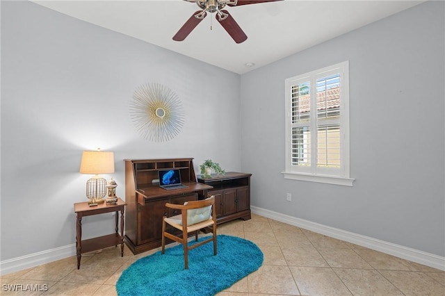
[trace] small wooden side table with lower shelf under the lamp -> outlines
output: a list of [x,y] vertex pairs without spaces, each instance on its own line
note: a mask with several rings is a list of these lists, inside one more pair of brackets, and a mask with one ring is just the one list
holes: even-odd
[[[120,256],[124,256],[124,209],[127,204],[120,198],[116,204],[108,205],[106,202],[97,206],[89,206],[88,202],[77,202],[74,204],[74,213],[77,215],[76,221],[76,255],[77,269],[81,267],[81,254],[104,249],[120,244]],[[120,233],[119,233],[119,211],[120,211]],[[82,217],[99,215],[103,213],[115,212],[116,227],[115,233],[97,238],[82,240]]]

